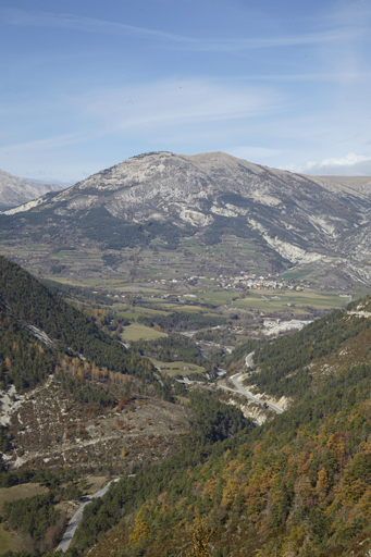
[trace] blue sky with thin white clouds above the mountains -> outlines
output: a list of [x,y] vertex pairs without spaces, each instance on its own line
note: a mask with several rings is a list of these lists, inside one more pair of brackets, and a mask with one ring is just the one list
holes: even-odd
[[2,0],[0,169],[219,150],[371,175],[370,22],[367,0]]

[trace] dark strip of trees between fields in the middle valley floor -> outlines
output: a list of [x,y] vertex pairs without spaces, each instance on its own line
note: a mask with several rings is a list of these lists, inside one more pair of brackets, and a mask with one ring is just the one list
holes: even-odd
[[174,311],[165,315],[139,315],[138,322],[147,326],[159,325],[164,331],[193,331],[206,329],[226,323],[226,318],[222,315],[202,315],[200,313],[186,313],[185,311]]

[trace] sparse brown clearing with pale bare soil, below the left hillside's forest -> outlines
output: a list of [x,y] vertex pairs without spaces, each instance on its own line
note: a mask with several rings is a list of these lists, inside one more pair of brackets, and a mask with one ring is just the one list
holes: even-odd
[[72,400],[52,376],[10,411],[13,449],[4,457],[11,469],[69,466],[87,474],[120,473],[176,450],[189,416],[181,404],[145,395],[133,396],[120,410],[91,410]]

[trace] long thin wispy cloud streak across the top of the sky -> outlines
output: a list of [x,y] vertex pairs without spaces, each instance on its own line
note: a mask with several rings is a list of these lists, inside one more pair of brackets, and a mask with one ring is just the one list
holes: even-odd
[[163,41],[166,46],[183,47],[190,50],[212,51],[212,52],[233,52],[238,50],[262,49],[262,48],[280,48],[294,47],[299,45],[320,45],[325,42],[338,42],[346,39],[356,38],[364,35],[366,30],[361,27],[351,29],[342,26],[335,30],[325,30],[318,33],[301,33],[298,35],[285,36],[267,36],[251,38],[233,38],[233,39],[205,39],[187,37],[165,33],[159,29],[149,29],[126,25],[123,23],[97,20],[94,17],[82,17],[74,14],[50,14],[50,13],[30,13],[21,10],[3,9],[0,12],[2,18],[11,25],[18,26],[38,26],[54,27],[62,29],[75,29],[86,33],[115,34],[126,35],[137,38],[157,39]]

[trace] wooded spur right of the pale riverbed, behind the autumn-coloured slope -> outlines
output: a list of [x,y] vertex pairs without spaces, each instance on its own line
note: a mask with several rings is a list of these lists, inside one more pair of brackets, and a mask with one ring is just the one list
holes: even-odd
[[251,373],[246,384],[253,384],[261,393],[277,398],[300,398],[312,381],[309,367],[314,361],[325,360],[370,326],[371,319],[335,310],[293,336],[261,344],[253,355],[259,372]]

